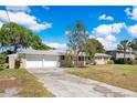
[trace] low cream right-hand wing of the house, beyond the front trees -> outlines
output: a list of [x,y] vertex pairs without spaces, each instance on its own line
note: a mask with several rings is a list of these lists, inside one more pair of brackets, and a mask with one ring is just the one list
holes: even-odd
[[96,64],[107,64],[112,55],[105,53],[96,53],[95,54],[95,62]]

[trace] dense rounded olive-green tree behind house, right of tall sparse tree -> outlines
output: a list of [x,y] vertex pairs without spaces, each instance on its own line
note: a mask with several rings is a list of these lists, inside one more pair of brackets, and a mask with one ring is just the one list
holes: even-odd
[[89,39],[87,44],[87,51],[91,58],[94,59],[95,53],[105,53],[103,44],[96,39]]

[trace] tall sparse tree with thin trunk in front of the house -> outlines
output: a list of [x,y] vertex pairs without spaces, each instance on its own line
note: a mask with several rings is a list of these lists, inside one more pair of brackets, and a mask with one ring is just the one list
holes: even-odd
[[72,29],[68,29],[68,42],[67,47],[68,50],[73,52],[74,56],[76,56],[76,65],[78,60],[80,52],[86,52],[85,47],[88,41],[88,34],[86,32],[85,27],[82,24],[81,21],[77,21],[75,27]]

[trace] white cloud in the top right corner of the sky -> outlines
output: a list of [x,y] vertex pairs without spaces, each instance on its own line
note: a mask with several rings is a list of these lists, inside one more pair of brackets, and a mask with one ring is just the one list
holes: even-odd
[[126,8],[125,12],[131,20],[137,20],[137,7],[133,7],[133,10],[130,8]]

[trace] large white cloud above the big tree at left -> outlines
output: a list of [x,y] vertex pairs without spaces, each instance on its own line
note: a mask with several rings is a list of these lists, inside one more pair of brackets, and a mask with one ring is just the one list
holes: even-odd
[[[11,22],[28,27],[33,31],[41,31],[52,28],[52,23],[39,23],[34,16],[30,16],[25,12],[11,12],[9,11]],[[8,17],[4,10],[0,10],[0,21],[8,22]]]

